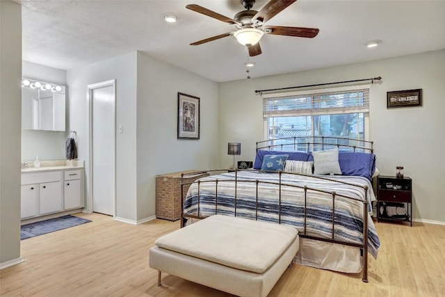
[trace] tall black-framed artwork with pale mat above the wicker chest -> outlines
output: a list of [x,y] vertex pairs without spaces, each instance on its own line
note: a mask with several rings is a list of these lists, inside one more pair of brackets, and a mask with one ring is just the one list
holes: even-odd
[[178,139],[200,139],[200,98],[178,93]]

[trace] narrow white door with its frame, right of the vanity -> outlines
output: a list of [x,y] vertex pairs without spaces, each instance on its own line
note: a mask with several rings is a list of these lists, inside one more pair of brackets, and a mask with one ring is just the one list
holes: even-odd
[[115,79],[88,85],[88,211],[115,216]]

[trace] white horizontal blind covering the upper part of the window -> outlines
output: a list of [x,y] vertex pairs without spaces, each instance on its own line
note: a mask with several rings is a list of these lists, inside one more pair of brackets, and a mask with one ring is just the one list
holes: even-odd
[[369,88],[364,86],[270,94],[263,99],[264,118],[368,112]]

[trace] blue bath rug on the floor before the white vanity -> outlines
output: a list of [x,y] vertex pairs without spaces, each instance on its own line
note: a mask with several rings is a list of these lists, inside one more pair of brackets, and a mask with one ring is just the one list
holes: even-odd
[[20,239],[27,239],[90,222],[91,220],[70,215],[60,216],[60,218],[50,218],[49,220],[22,225]]

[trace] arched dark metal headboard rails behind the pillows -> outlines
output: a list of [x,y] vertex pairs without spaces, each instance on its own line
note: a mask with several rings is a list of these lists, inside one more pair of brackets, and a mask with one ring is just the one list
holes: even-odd
[[317,151],[330,150],[338,147],[350,152],[373,153],[373,141],[362,141],[357,138],[341,138],[331,136],[292,136],[275,138],[268,141],[258,141],[258,150],[290,150],[290,151]]

